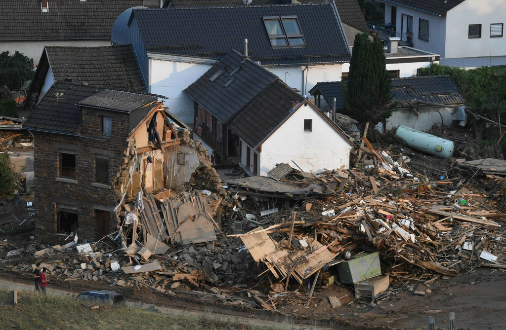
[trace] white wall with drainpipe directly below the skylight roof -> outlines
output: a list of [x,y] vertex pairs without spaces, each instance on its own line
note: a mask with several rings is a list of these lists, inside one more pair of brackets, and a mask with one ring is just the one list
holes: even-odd
[[[309,95],[309,90],[319,81],[338,81],[341,80],[342,65],[309,65],[306,73],[306,66],[282,66],[265,68],[283,80],[288,86],[297,88],[302,95]],[[307,82],[306,82],[307,74]],[[304,82],[303,82],[304,75]]]

